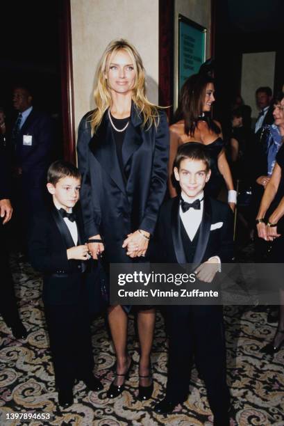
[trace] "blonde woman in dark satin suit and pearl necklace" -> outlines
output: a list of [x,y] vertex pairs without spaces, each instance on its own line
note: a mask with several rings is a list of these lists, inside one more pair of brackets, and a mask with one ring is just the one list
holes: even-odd
[[[169,130],[165,113],[145,95],[145,71],[126,40],[110,42],[94,89],[97,108],[81,120],[78,166],[83,174],[81,203],[89,250],[107,262],[147,260],[149,239],[167,186]],[[95,241],[92,241],[95,240]],[[131,368],[127,354],[129,306],[110,306],[108,321],[117,355],[107,396],[117,397]],[[155,310],[140,307],[139,395],[151,397],[150,353]]]

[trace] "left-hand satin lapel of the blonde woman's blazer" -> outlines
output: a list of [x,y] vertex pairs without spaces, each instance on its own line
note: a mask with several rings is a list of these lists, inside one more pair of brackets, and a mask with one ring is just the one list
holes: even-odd
[[99,164],[101,164],[103,170],[110,175],[117,187],[126,195],[124,179],[117,159],[115,141],[112,136],[112,127],[107,113],[104,114],[97,133],[90,140],[90,150],[99,161]]

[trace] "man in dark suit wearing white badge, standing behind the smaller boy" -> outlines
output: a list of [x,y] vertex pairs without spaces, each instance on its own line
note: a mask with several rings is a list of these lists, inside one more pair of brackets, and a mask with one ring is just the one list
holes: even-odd
[[25,242],[31,217],[44,208],[47,168],[51,164],[54,148],[54,127],[46,113],[33,108],[29,88],[16,87],[13,104],[18,111],[11,135],[15,146],[14,166],[17,175],[15,202]]

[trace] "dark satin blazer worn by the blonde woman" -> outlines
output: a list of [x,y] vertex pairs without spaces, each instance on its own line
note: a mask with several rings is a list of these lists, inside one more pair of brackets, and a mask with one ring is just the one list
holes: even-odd
[[105,113],[91,136],[90,113],[78,129],[78,168],[83,175],[81,206],[87,237],[100,234],[110,262],[131,262],[122,243],[129,232],[153,234],[167,187],[169,129],[160,111],[156,129],[142,127],[135,104],[126,130],[122,158],[126,184],[117,159],[112,127]]

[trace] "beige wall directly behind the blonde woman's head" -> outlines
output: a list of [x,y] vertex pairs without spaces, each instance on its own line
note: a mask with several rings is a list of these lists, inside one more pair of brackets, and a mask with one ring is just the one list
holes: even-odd
[[75,127],[94,108],[94,72],[110,40],[126,38],[142,56],[147,94],[158,102],[158,0],[71,0]]

